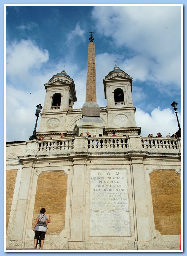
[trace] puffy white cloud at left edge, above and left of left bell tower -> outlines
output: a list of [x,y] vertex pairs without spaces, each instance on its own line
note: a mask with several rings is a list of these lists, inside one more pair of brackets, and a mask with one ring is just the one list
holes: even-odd
[[48,59],[48,51],[40,49],[34,41],[14,41],[6,48],[6,74],[9,79],[23,81],[29,78],[31,69],[39,70]]

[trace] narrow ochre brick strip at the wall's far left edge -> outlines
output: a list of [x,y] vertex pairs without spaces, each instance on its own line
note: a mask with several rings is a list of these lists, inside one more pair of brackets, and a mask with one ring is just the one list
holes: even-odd
[[9,224],[10,210],[16,183],[17,169],[6,170],[6,230]]

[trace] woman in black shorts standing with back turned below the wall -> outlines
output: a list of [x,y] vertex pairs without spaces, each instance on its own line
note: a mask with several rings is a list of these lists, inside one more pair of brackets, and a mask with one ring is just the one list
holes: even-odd
[[46,236],[46,231],[47,231],[47,224],[50,223],[50,216],[49,216],[49,220],[47,218],[47,216],[45,215],[46,209],[42,208],[40,210],[40,214],[38,214],[34,227],[33,227],[33,231],[35,231],[35,246],[34,248],[36,249],[37,247],[37,241],[41,240],[41,249],[43,249],[43,243],[45,240],[45,236]]

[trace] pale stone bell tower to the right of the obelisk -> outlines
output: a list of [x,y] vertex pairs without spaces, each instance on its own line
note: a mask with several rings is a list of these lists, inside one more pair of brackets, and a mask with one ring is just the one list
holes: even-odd
[[103,80],[105,99],[107,99],[108,134],[116,130],[123,134],[140,135],[141,127],[136,126],[132,100],[132,77],[117,65]]

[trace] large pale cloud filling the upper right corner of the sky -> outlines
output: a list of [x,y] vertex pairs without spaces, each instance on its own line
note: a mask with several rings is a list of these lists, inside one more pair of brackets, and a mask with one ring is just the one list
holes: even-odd
[[95,6],[92,16],[99,32],[134,51],[124,62],[131,76],[181,87],[180,6]]

